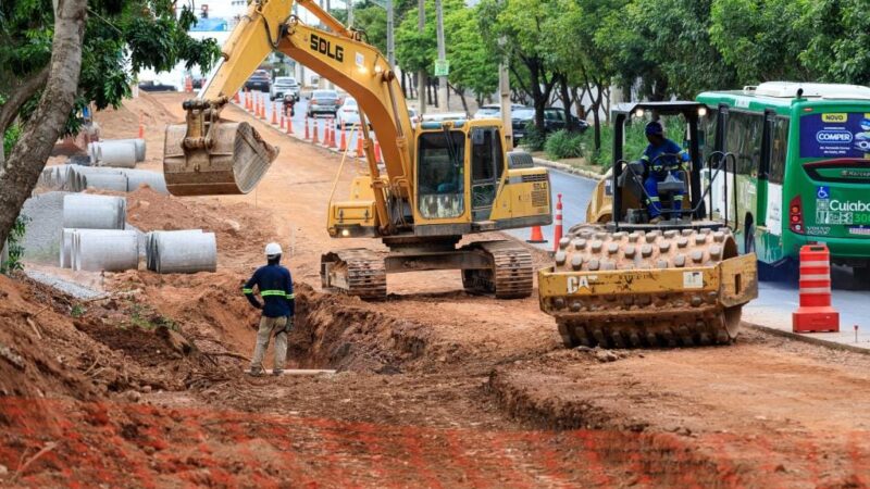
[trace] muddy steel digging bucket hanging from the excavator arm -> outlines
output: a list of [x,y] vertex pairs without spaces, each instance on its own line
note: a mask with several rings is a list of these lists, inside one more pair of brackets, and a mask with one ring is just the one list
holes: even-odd
[[170,193],[213,196],[253,190],[278,149],[263,141],[248,123],[214,121],[203,126],[206,136],[191,137],[188,115],[187,125],[166,127],[163,174]]

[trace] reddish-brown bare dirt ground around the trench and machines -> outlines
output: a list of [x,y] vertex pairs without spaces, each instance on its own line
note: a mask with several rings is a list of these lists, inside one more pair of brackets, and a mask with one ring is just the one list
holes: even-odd
[[[128,137],[136,125],[113,121],[150,114],[144,167],[158,170],[182,100],[98,120]],[[107,274],[115,298],[87,304],[0,279],[0,484],[870,484],[868,356],[755,330],[726,348],[564,350],[535,296],[470,296],[458,272],[390,276],[381,303],[321,292],[321,253],[381,246],[326,234],[339,156],[254,124],[281,155],[251,195],[127,197],[140,229],[217,233],[219,273]],[[335,375],[243,375],[257,314],[239,285],[270,240],[298,287],[290,363]]]

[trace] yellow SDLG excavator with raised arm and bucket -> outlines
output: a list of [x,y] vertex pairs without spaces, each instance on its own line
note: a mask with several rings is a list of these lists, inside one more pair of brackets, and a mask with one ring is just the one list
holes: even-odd
[[[220,118],[245,80],[272,51],[313,70],[357,100],[368,174],[352,181],[349,200],[330,203],[334,238],[380,238],[370,249],[323,254],[324,289],[363,299],[386,297],[386,274],[461,269],[474,293],[512,299],[532,293],[531,253],[507,240],[460,246],[475,234],[548,225],[546,170],[529,154],[509,152],[498,120],[422,122],[413,127],[393,66],[363,33],[347,28],[312,0],[297,0],[325,28],[293,15],[294,0],[254,0],[223,47],[223,59],[199,97],[184,102],[186,125],[166,129],[163,168],[176,196],[246,193],[277,149],[247,123]],[[375,161],[369,124],[383,151]]]

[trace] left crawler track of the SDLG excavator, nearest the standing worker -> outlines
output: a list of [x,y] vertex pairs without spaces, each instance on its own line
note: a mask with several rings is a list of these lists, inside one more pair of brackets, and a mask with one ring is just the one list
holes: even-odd
[[324,290],[340,291],[368,301],[387,297],[384,256],[365,249],[333,251],[321,256]]

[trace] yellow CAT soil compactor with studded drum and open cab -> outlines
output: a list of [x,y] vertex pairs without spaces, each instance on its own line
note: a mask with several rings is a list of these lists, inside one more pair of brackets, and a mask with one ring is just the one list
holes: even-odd
[[[538,272],[540,309],[556,318],[566,347],[688,347],[736,338],[743,305],[758,296],[757,259],[738,255],[728,218],[721,218],[730,199],[711,193],[711,183],[725,183],[728,195],[735,159],[717,150],[724,146],[722,130],[714,143],[703,137],[699,120],[706,115],[704,104],[688,101],[613,111],[612,172],[596,186],[587,222],[569,230],[555,263]],[[657,184],[658,196],[662,206],[679,193],[688,199],[656,222],[644,204],[652,200],[644,187],[647,168],[623,159],[624,135],[626,124],[666,117],[674,123],[672,134],[684,128],[691,162]],[[710,142],[705,163],[701,139]],[[733,193],[733,180],[731,187]],[[725,209],[713,210],[720,200]]]

